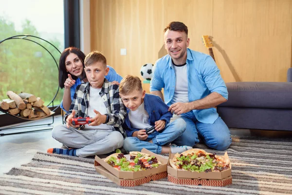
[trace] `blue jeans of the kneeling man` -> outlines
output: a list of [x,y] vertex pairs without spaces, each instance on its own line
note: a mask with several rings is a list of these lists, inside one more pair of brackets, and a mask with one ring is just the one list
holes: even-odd
[[198,121],[192,111],[183,113],[179,118],[183,118],[186,122],[186,130],[172,143],[194,146],[199,143],[200,136],[210,148],[226,150],[230,146],[232,141],[230,131],[221,117],[218,117],[213,124]]

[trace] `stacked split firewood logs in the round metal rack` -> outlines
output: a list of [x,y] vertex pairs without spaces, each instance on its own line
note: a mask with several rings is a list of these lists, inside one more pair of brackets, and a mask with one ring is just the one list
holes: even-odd
[[32,94],[20,93],[13,91],[6,93],[9,99],[0,101],[1,109],[7,111],[11,115],[22,118],[36,118],[50,115],[51,110],[43,105],[44,101]]

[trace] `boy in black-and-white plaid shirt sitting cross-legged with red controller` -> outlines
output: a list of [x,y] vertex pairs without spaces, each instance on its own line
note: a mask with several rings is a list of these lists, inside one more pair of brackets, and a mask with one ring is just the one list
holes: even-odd
[[[89,82],[76,88],[70,110],[65,114],[66,125],[58,125],[52,136],[73,149],[50,148],[48,153],[92,156],[107,154],[123,146],[126,132],[126,108],[119,97],[118,85],[111,84],[105,76],[109,73],[107,60],[100,52],[91,52],[84,60]],[[91,117],[90,124],[82,129],[71,122],[73,117]]]

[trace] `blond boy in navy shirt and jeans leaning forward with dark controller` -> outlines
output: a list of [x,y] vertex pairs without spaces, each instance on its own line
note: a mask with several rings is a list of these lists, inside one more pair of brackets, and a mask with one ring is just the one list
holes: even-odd
[[[169,143],[181,136],[186,123],[179,118],[169,123],[172,117],[168,106],[159,98],[146,94],[138,77],[127,76],[119,86],[120,96],[127,107],[128,116],[125,123],[128,126],[124,149],[127,152],[141,151],[143,148],[156,153],[182,153],[192,147],[176,146]],[[155,126],[153,133],[147,135],[146,129]]]

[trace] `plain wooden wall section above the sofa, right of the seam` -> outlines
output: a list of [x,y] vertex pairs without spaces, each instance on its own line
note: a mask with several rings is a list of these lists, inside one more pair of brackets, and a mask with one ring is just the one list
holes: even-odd
[[291,0],[215,0],[214,55],[225,82],[286,81]]

